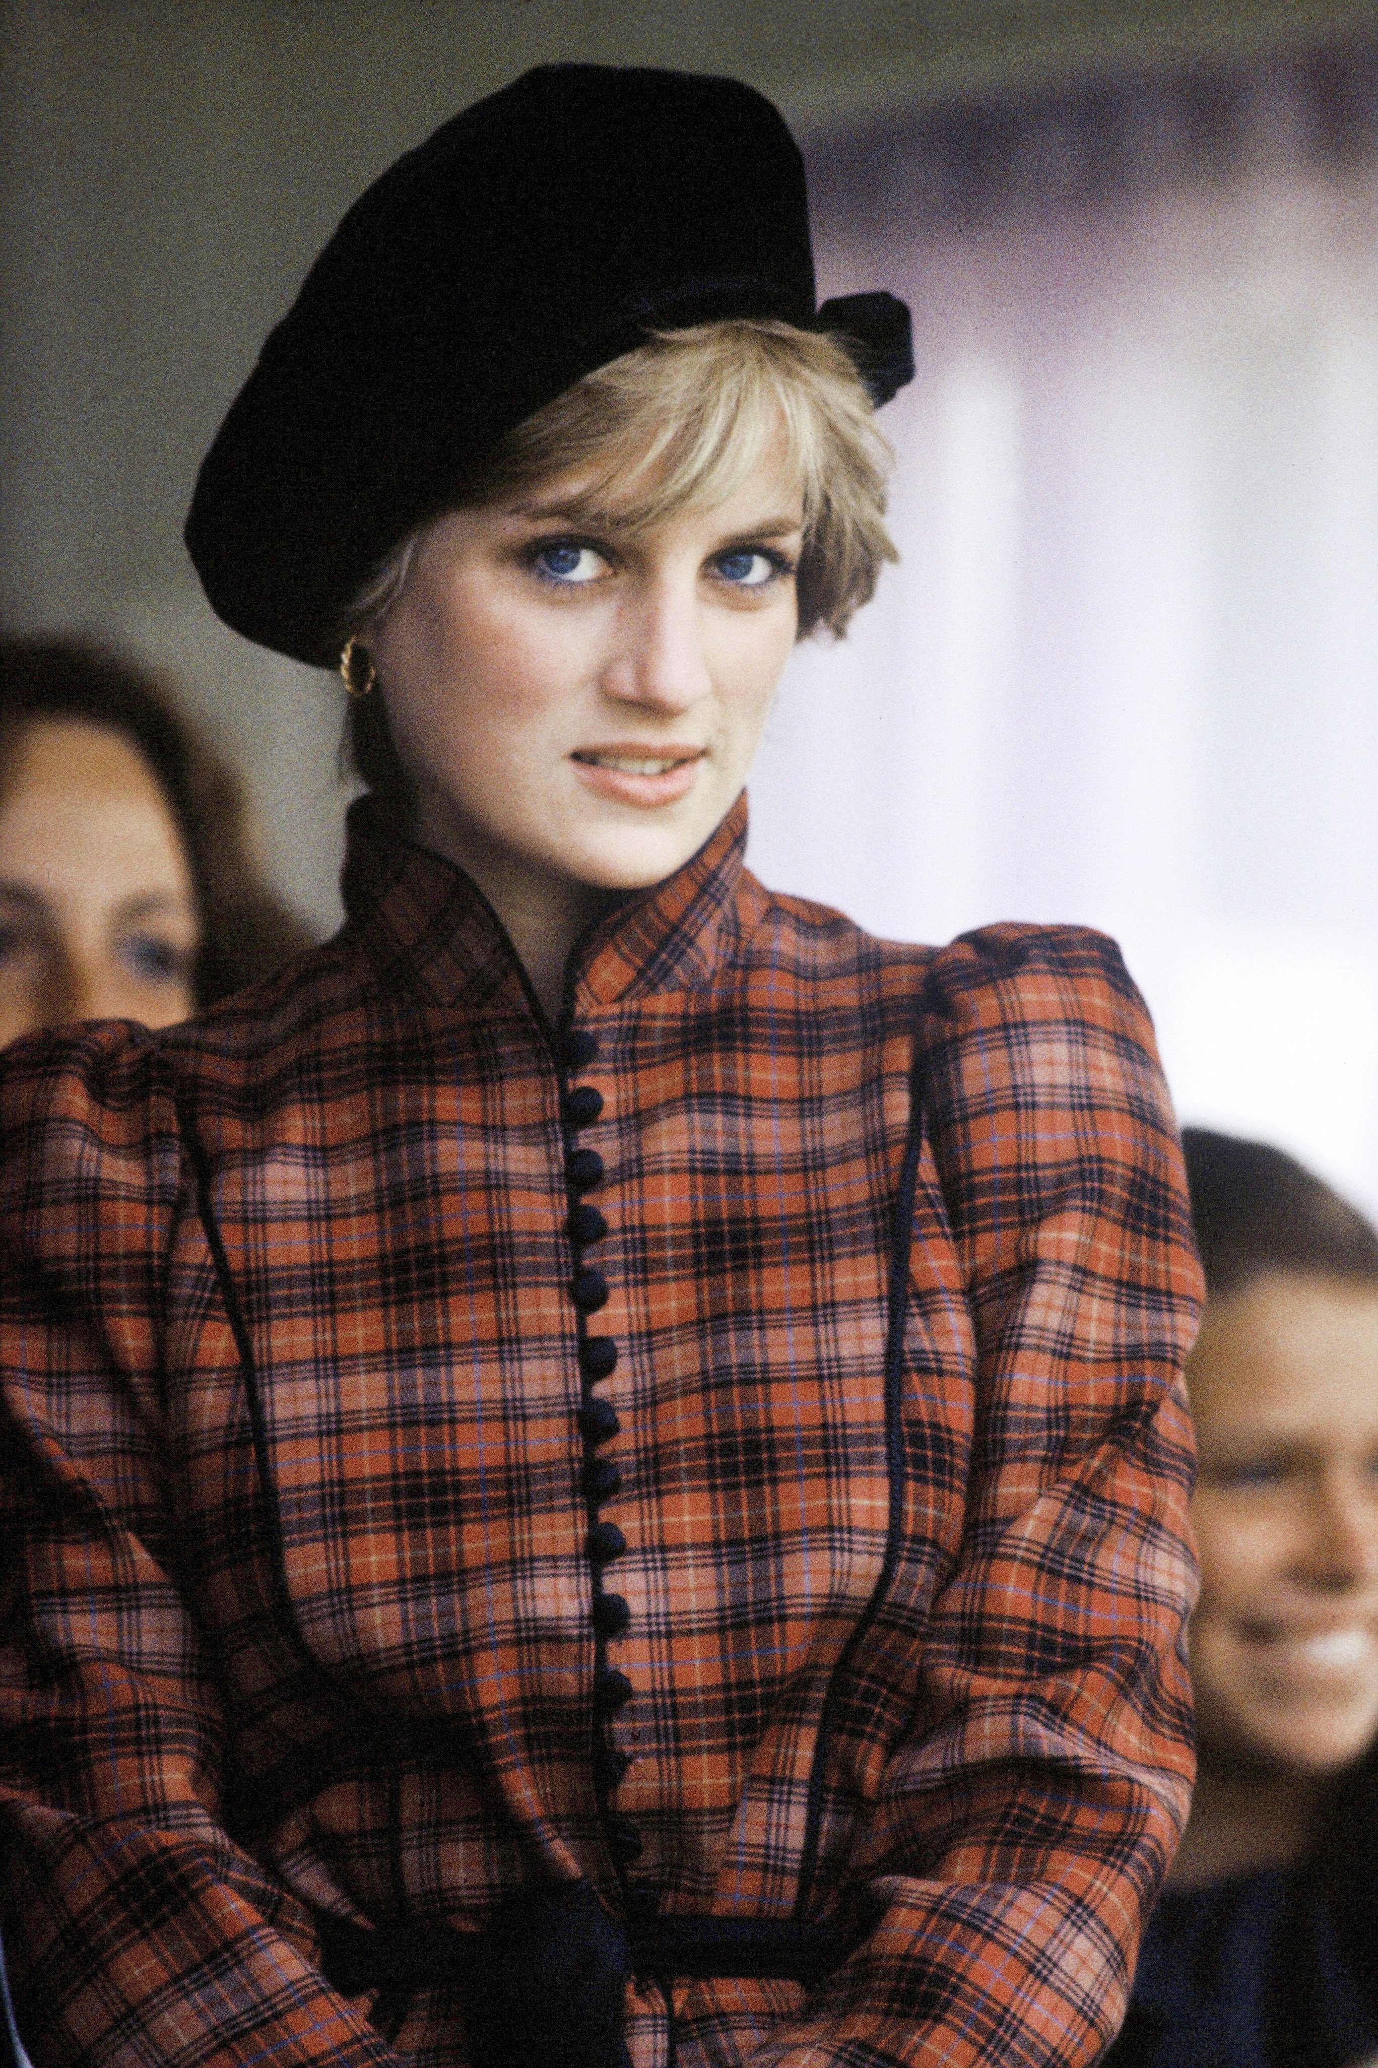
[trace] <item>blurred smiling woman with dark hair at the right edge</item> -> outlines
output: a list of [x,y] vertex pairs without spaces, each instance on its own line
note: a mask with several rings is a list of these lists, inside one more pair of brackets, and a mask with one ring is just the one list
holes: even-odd
[[1200,1778],[1115,2064],[1378,2054],[1378,1235],[1260,1142],[1188,1129],[1206,1313]]

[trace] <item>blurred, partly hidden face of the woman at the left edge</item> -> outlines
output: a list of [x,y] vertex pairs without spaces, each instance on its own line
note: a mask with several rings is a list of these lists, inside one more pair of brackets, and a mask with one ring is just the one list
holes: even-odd
[[0,792],[0,1042],[70,1020],[186,1020],[199,935],[143,755],[81,720],[25,726]]

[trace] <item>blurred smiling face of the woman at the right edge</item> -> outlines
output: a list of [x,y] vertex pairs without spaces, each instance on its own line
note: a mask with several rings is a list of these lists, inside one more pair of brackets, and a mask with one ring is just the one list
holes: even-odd
[[1378,1288],[1215,1299],[1188,1383],[1202,1760],[1335,1774],[1378,1733]]

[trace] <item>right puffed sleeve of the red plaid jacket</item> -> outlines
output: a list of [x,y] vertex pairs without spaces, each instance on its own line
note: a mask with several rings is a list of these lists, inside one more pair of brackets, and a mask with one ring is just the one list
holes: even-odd
[[921,1042],[966,1528],[857,1861],[873,1927],[753,2068],[1092,2062],[1188,1810],[1200,1278],[1148,1015],[1103,937],[999,926],[935,957]]

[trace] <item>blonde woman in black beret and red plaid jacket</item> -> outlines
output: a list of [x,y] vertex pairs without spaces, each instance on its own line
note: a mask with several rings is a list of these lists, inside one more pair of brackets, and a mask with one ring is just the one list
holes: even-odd
[[1148,1024],[1101,939],[743,869],[906,356],[759,95],[557,66],[234,403],[192,556],[370,796],[312,964],[8,1071],[37,2068],[1109,2037],[1190,1772]]

